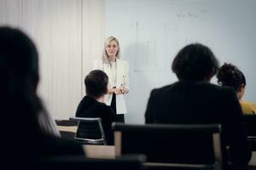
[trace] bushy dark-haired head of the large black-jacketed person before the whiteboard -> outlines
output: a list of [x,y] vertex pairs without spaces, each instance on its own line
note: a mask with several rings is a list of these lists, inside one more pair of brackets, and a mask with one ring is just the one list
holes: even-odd
[[182,48],[172,62],[172,71],[179,80],[210,80],[217,69],[218,59],[210,48],[200,43],[189,44]]

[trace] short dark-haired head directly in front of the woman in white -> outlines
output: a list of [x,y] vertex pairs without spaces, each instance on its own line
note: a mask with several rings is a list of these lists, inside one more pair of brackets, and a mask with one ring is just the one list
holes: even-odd
[[86,94],[95,99],[108,92],[108,76],[100,70],[90,71],[84,79]]

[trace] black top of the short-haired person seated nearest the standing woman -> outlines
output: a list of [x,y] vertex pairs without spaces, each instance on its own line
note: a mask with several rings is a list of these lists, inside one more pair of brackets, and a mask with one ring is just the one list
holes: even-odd
[[84,96],[78,106],[76,116],[101,117],[107,144],[113,144],[113,130],[111,124],[116,121],[116,114],[108,105],[98,102],[90,96]]

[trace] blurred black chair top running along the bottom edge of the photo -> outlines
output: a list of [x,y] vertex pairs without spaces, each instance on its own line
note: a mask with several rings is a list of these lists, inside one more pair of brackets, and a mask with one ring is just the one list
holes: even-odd
[[128,156],[116,159],[84,158],[82,156],[55,156],[28,161],[28,169],[89,169],[89,170],[143,170],[144,156]]

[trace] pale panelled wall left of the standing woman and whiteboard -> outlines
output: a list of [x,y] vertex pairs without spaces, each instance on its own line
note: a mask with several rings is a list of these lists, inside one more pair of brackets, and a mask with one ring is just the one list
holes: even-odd
[[103,0],[0,0],[0,25],[19,27],[37,44],[38,93],[55,119],[74,116],[84,76],[102,54]]

